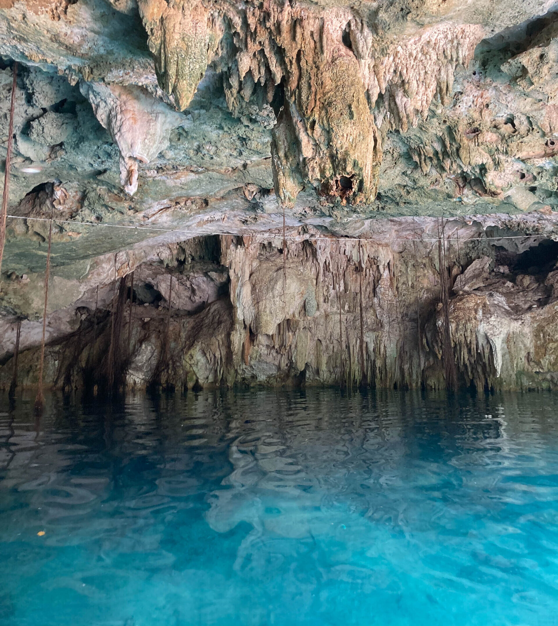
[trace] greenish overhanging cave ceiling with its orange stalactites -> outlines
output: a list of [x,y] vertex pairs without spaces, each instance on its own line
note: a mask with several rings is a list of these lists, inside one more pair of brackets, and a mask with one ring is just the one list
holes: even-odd
[[3,270],[41,271],[48,227],[31,218],[51,214],[54,265],[76,277],[146,240],[280,233],[283,211],[291,232],[334,235],[552,221],[557,17],[542,0],[0,0],[0,153],[16,60],[24,218]]

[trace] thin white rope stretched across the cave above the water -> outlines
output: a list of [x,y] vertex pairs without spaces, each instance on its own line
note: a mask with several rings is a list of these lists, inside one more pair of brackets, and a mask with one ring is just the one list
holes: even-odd
[[[6,215],[6,217],[12,218],[12,219],[16,219],[16,220],[35,220],[36,222],[49,222],[50,219],[46,218],[46,217],[25,217],[24,215]],[[131,228],[132,230],[152,230],[155,232],[168,232],[168,233],[180,233],[180,234],[184,234],[184,235],[229,235],[229,237],[266,237],[266,238],[273,238],[273,239],[277,239],[279,237],[282,238],[281,233],[277,233],[276,235],[269,233],[269,232],[248,232],[248,233],[231,233],[231,232],[209,232],[207,230],[182,230],[180,228],[175,229],[175,228],[157,228],[154,226],[126,226],[124,224],[101,224],[101,223],[94,223],[94,222],[73,222],[72,220],[57,220],[57,219],[53,219],[54,223],[61,223],[61,224],[72,224],[74,226],[100,226],[100,227],[104,227],[104,228]],[[279,228],[279,227],[277,227]],[[495,240],[500,240],[500,239],[530,239],[530,238],[537,238],[537,237],[549,237],[548,234],[544,234],[544,233],[540,233],[539,235],[502,235],[501,237],[468,237],[467,241],[483,241],[483,240],[487,240],[487,239],[495,239]],[[434,239],[409,239],[406,237],[391,237],[390,239],[378,239],[378,238],[374,238],[374,237],[348,237],[348,236],[344,236],[344,237],[336,237],[334,235],[332,235],[331,237],[315,237],[315,236],[310,236],[310,237],[304,237],[304,235],[286,235],[285,239],[292,239],[295,241],[299,241],[299,240],[304,240],[304,239],[310,239],[310,240],[321,240],[321,241],[332,241],[332,240],[336,240],[336,241],[341,241],[341,240],[346,240],[346,241],[350,241],[350,242],[358,242],[358,241],[363,241],[363,242],[370,242],[370,243],[386,243],[386,242],[391,242],[391,241],[421,241],[421,242],[437,242],[438,238],[435,237]]]

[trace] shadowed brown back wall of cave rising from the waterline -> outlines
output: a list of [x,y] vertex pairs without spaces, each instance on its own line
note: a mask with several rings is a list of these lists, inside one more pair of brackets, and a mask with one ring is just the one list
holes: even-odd
[[[432,236],[440,225],[442,257]],[[420,239],[387,243],[290,235],[283,242],[280,233],[199,237],[159,247],[135,267],[122,258],[121,278],[101,290],[96,309],[91,295],[70,307],[73,329],[64,327],[46,350],[46,383],[106,391],[116,328],[121,389],[441,389],[445,271],[458,385],[558,388],[558,244],[544,236],[506,239],[499,227],[488,229],[492,239],[474,237],[474,226],[458,243],[459,225],[431,220]],[[14,328],[13,319],[3,388],[13,374]],[[37,374],[35,344],[19,354],[19,384],[34,386]]]

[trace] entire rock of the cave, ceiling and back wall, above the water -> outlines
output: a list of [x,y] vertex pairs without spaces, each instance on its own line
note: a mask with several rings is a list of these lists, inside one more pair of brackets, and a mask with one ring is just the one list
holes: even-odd
[[0,385],[48,256],[54,387],[554,389],[557,60],[546,0],[0,3]]

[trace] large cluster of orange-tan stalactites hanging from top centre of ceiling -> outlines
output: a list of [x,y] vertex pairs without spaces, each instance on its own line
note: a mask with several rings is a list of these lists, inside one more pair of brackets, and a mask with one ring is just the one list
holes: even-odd
[[443,24],[386,45],[366,11],[350,7],[140,0],[139,8],[159,83],[180,110],[212,62],[234,115],[251,99],[260,108],[274,104],[274,184],[287,207],[307,182],[343,203],[373,202],[378,97],[385,99],[380,124],[416,126],[435,96],[447,103],[455,68],[468,64],[484,32],[477,24]]

